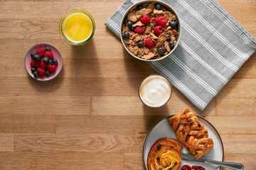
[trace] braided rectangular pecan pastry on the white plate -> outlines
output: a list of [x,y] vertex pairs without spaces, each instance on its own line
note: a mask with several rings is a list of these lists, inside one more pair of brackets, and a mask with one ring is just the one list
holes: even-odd
[[199,123],[195,113],[185,108],[180,113],[168,119],[171,128],[176,131],[176,137],[188,149],[195,159],[201,158],[213,148],[213,140],[208,138],[208,130]]

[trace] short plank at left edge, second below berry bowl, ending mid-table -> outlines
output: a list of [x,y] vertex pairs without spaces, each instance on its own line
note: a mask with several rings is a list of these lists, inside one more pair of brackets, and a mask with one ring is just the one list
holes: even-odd
[[[0,96],[0,108],[2,113],[7,114],[23,114],[23,115],[73,115],[73,114],[87,114],[91,111],[91,97],[90,96],[65,96],[53,95],[49,92],[40,95],[41,98],[46,98],[47,103],[42,104],[38,108],[38,104],[31,104],[31,101],[38,101],[38,95],[18,95],[9,94]],[[72,103],[72,104],[70,104]],[[56,106],[62,106],[56,107]],[[28,110],[30,106],[30,110]],[[18,109],[17,109],[18,107]]]

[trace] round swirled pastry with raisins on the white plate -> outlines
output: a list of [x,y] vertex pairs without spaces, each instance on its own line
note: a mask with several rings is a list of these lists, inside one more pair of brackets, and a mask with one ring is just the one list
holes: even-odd
[[149,170],[178,170],[183,145],[178,140],[162,137],[154,142],[147,159]]

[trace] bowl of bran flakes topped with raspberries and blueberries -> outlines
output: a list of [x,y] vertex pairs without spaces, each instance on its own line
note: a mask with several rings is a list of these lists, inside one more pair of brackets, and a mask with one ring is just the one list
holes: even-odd
[[162,60],[178,46],[181,23],[171,6],[162,1],[139,1],[122,18],[120,37],[133,57]]

